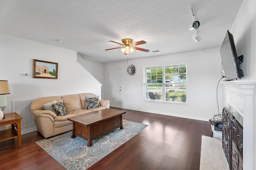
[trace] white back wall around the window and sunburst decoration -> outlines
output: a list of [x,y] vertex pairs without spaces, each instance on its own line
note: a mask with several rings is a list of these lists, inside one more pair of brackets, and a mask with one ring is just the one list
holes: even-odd
[[[130,56],[132,59],[132,55]],[[188,63],[188,104],[159,103],[143,100],[143,68],[161,64]],[[134,64],[136,74],[129,76],[128,65]],[[218,114],[216,88],[221,78],[220,48],[150,57],[147,59],[130,60],[105,64],[105,81],[108,84],[109,69],[122,68],[122,101],[123,108],[187,117],[192,119],[212,119]],[[104,86],[104,96],[108,96],[108,88]],[[126,87],[126,88],[124,88]]]

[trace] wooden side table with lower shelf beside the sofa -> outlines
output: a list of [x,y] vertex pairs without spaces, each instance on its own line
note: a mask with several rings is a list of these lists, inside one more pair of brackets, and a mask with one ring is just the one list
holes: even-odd
[[[0,121],[0,126],[12,124],[12,128],[0,131],[0,142],[17,137],[18,147],[20,148],[21,147],[20,120],[22,119],[22,117],[20,115],[18,115],[16,112],[6,113],[4,115],[5,115],[4,119],[2,121]],[[17,130],[15,129],[15,127],[17,128]]]

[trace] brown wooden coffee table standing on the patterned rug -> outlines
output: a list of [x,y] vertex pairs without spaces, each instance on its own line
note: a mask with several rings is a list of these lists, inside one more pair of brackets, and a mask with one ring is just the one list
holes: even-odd
[[97,139],[120,127],[124,129],[122,115],[126,113],[116,109],[102,109],[83,115],[68,118],[73,122],[72,138],[78,136],[87,140],[87,146],[92,146],[92,140]]

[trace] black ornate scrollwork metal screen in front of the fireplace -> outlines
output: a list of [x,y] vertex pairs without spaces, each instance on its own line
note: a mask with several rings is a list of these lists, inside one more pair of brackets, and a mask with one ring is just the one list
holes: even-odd
[[229,164],[230,170],[243,169],[243,127],[228,111],[222,110],[222,148]]

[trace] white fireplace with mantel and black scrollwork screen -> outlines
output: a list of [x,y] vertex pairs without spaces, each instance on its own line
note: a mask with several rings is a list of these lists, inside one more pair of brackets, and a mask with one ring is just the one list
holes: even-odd
[[[222,114],[227,113],[228,118],[224,118],[226,126],[229,130],[223,129],[223,134],[226,137],[222,139],[224,142],[224,151],[228,162],[232,161],[232,157],[236,158],[238,170],[253,170],[256,169],[256,126],[255,122],[255,89],[256,82],[252,81],[230,81],[222,82]],[[229,126],[229,127],[228,127]],[[223,127],[224,128],[224,127]],[[231,137],[236,137],[234,140]],[[238,140],[239,139],[239,140]],[[228,142],[229,141],[229,142]],[[233,146],[237,149],[233,150]],[[236,151],[236,152],[234,152]],[[230,163],[232,168],[232,163]]]

